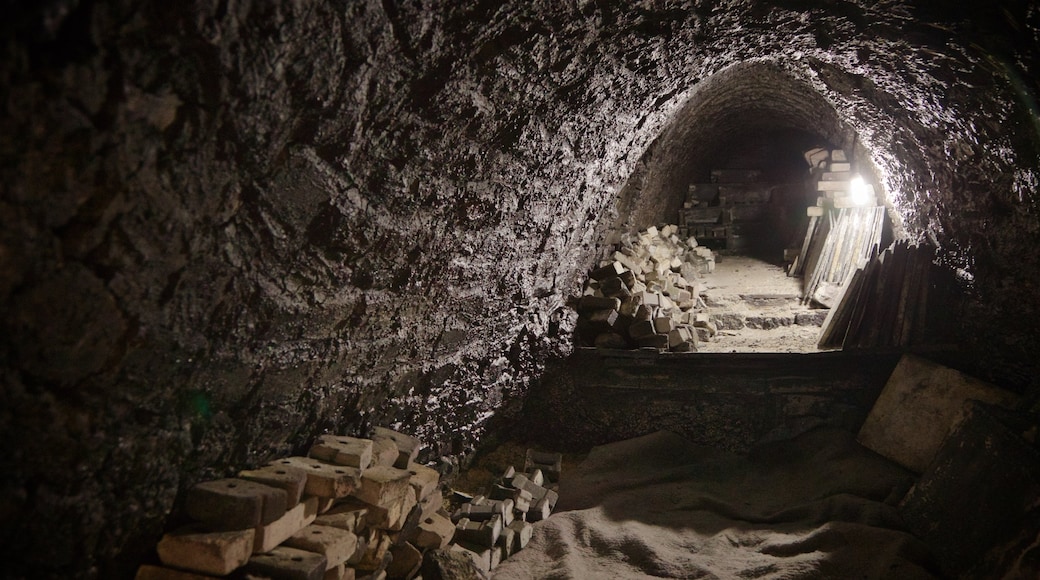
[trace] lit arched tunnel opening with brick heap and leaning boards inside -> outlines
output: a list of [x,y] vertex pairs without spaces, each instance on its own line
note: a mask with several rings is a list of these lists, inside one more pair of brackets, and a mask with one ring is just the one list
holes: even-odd
[[[639,310],[628,300],[640,296],[615,295],[609,285],[604,295],[600,281],[591,280],[587,295],[616,297],[621,308],[617,320],[601,313],[593,329],[579,328],[584,329],[579,342],[674,351],[679,341],[679,351],[688,351],[693,348],[682,345],[681,337],[691,335],[698,351],[818,350],[821,327],[849,272],[859,265],[856,256],[876,254],[893,238],[867,155],[833,106],[778,63],[744,62],[701,81],[622,188],[606,237],[613,255],[598,265],[627,262],[619,252],[628,252],[635,262],[650,256],[650,262],[632,268],[636,274],[650,271],[649,279],[631,289],[644,296],[648,287],[672,299],[648,296],[657,310]],[[869,186],[869,201],[850,201],[853,176]],[[839,214],[853,228],[842,234],[842,243],[856,239],[864,249],[827,254],[824,241],[836,235],[829,232]],[[633,240],[646,247],[632,248]],[[674,263],[668,271],[660,257],[652,256],[654,243],[680,255],[696,249],[698,260],[709,257],[709,262],[698,262],[698,268]],[[842,260],[847,264],[838,263]],[[820,282],[817,265],[834,272],[827,270]],[[691,280],[694,269],[696,281]],[[597,275],[608,274],[599,270]],[[693,300],[685,298],[687,292]],[[680,295],[684,302],[676,298]],[[587,305],[587,311],[593,308],[591,300]],[[595,306],[610,307],[606,301]],[[656,324],[651,336],[643,320],[648,316],[673,321]],[[628,332],[633,320],[638,333]],[[683,325],[691,327],[680,339],[666,343],[660,336]],[[603,333],[625,340],[603,340]]]

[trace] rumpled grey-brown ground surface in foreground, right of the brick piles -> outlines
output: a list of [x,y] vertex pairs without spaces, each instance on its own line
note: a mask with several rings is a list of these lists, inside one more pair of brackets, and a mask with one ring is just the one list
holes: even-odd
[[815,429],[749,455],[659,431],[595,448],[495,579],[934,578],[901,468]]

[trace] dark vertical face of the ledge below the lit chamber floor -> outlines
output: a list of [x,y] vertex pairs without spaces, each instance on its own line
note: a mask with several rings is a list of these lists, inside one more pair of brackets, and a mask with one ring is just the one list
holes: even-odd
[[531,437],[551,438],[560,449],[669,429],[747,451],[762,438],[814,424],[858,429],[898,359],[583,348],[546,374],[525,412]]

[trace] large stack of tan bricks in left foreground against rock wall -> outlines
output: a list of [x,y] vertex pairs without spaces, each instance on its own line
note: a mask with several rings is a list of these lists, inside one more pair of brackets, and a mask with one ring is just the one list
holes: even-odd
[[234,577],[414,578],[423,553],[456,532],[440,474],[415,463],[419,441],[321,436],[308,456],[205,481],[185,498],[190,525],[157,546],[137,580]]

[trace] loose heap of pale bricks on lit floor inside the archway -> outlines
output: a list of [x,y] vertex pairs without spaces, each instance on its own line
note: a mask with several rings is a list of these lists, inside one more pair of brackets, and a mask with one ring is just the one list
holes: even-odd
[[626,236],[590,273],[574,305],[583,346],[688,352],[714,336],[698,276],[714,270],[716,256],[677,232],[669,225]]

